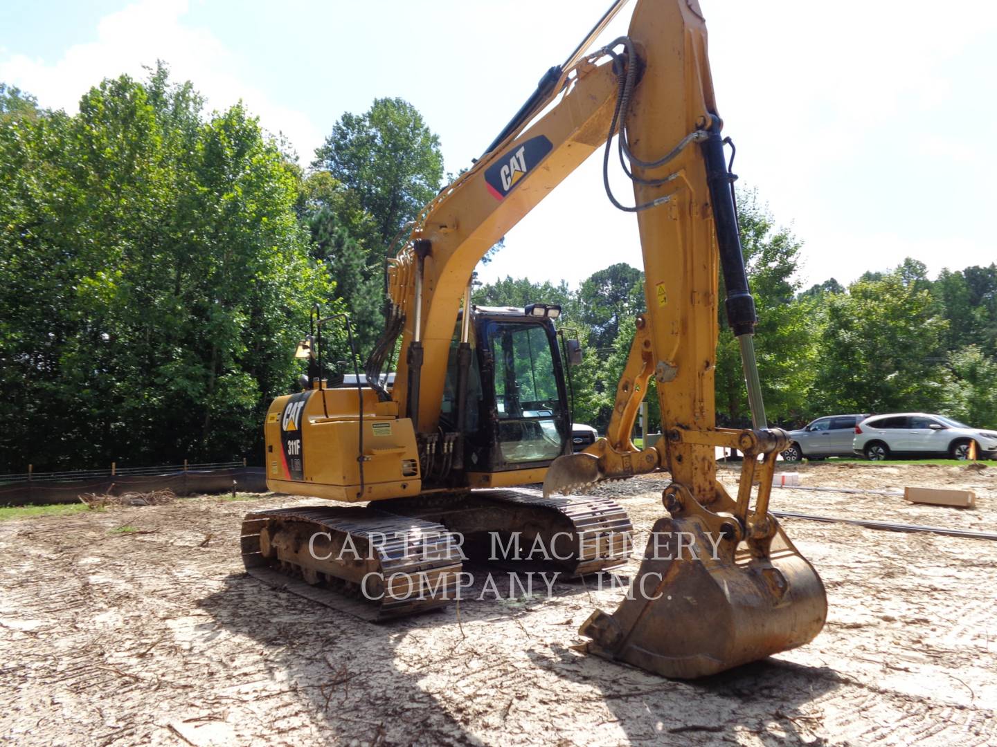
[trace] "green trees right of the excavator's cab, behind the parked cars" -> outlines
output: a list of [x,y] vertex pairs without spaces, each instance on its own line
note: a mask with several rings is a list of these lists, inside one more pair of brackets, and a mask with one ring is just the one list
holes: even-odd
[[[775,223],[755,192],[739,196],[741,240],[758,307],[756,350],[769,421],[799,427],[831,413],[920,410],[997,427],[997,264],[943,270],[906,259],[842,286],[804,289],[803,243]],[[721,278],[721,297],[723,297]],[[587,343],[574,373],[574,419],[604,431],[616,382],[646,308],[643,273],[615,264],[576,290],[507,277],[480,288],[479,303],[560,304],[559,325]],[[740,351],[719,310],[717,419],[751,424]],[[650,425],[660,414],[649,389]]]

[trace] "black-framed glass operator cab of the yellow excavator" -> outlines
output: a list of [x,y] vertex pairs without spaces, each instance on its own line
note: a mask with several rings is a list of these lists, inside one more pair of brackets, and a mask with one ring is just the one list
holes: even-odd
[[441,425],[464,431],[466,471],[534,469],[571,453],[570,407],[553,326],[559,314],[560,307],[544,304],[473,307],[464,423],[456,422],[460,338],[455,335]]

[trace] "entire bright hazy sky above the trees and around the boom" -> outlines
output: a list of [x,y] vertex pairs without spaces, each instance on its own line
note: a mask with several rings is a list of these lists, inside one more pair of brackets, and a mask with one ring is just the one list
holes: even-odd
[[[997,261],[997,3],[701,4],[735,170],[805,242],[802,280],[847,282],[905,256],[932,273]],[[608,5],[4,3],[0,81],[74,111],[102,78],[141,76],[162,58],[209,107],[243,99],[303,162],[344,112],[400,96],[440,134],[457,171]],[[622,15],[608,34],[625,30]],[[636,221],[608,204],[599,166],[590,159],[510,231],[484,279],[574,285],[611,262],[639,267]]]

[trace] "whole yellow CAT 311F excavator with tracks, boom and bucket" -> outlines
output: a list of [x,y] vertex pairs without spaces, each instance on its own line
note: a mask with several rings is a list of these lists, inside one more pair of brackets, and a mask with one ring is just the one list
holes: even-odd
[[[248,514],[251,575],[383,621],[451,603],[468,558],[599,573],[626,563],[632,527],[614,501],[572,492],[667,471],[668,515],[652,528],[633,593],[582,625],[588,650],[688,678],[820,632],[820,577],[768,511],[787,441],[765,418],[725,151],[733,143],[722,134],[703,13],[698,0],[638,0],[627,35],[593,50],[625,3],[422,210],[389,261],[385,331],[364,373],[324,373],[323,330],[349,333],[349,324],[313,314],[298,349],[309,362],[302,389],[266,416],[267,484],[364,505]],[[572,453],[565,376],[580,350],[558,344],[560,309],[476,307],[471,280],[489,248],[600,148],[609,199],[639,223],[648,311],[605,437]],[[632,206],[610,188],[613,150],[633,182]],[[719,273],[752,428],[716,427]],[[384,373],[396,350],[397,372]],[[651,376],[663,436],[638,449],[630,435]],[[736,496],[717,481],[717,447],[745,455]]]

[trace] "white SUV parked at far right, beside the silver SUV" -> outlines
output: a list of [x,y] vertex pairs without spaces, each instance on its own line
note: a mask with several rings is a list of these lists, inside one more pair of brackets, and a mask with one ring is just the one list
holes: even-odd
[[856,454],[872,460],[888,459],[891,454],[945,454],[953,459],[966,459],[973,441],[978,458],[991,459],[997,455],[995,431],[971,428],[943,415],[896,412],[867,417],[858,423],[851,447]]

